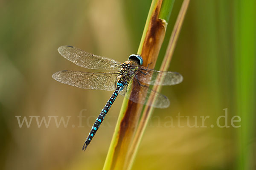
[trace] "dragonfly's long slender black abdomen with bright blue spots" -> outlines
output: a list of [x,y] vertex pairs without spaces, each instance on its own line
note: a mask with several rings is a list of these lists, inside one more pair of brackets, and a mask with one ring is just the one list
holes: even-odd
[[90,133],[88,137],[86,138],[82,150],[86,150],[87,145],[90,144],[91,140],[93,139],[93,136],[95,135],[96,131],[99,129],[99,126],[101,125],[102,121],[104,120],[106,114],[108,113],[109,109],[113,105],[113,102],[116,100],[116,97],[119,93],[120,88],[124,88],[124,86],[127,85],[127,82],[123,82],[122,80],[119,80],[116,85],[116,90],[112,94],[111,98],[108,100],[102,111],[99,113],[98,118],[93,124],[92,129],[90,130]]

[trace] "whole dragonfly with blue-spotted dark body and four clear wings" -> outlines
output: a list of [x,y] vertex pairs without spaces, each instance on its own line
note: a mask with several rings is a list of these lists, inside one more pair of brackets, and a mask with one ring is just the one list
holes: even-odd
[[[88,144],[90,144],[119,94],[132,102],[149,105],[154,108],[167,108],[170,104],[169,99],[151,90],[149,85],[176,85],[183,80],[182,75],[177,72],[156,71],[142,66],[143,58],[138,54],[130,55],[128,60],[122,63],[85,52],[70,45],[59,47],[58,52],[64,58],[81,67],[109,70],[109,72],[95,73],[64,70],[52,74],[53,79],[67,85],[83,89],[114,91],[93,124],[82,150],[86,150]],[[134,87],[139,90],[134,92]],[[150,94],[154,95],[154,102],[147,103],[146,101]]]

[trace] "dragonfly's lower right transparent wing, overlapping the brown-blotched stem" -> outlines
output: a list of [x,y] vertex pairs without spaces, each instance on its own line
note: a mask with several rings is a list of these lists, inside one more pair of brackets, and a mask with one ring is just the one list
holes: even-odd
[[[142,85],[135,77],[131,77],[129,84],[119,91],[119,94],[133,102],[149,105],[154,108],[167,108],[170,105],[169,99],[166,96],[153,91],[146,85]],[[154,94],[155,102],[148,104],[147,100],[150,94]]]

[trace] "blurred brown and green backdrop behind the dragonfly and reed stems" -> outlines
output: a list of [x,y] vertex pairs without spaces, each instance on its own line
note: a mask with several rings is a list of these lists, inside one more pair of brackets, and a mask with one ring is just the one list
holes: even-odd
[[[156,69],[160,68],[182,1],[175,1]],[[102,169],[122,104],[119,96],[86,152],[82,144],[111,91],[74,88],[52,79],[81,68],[57,52],[61,45],[124,62],[137,52],[150,0],[0,1],[0,169]],[[256,169],[255,0],[191,0],[170,71],[180,85],[163,87],[171,105],[155,109],[133,169]],[[216,125],[225,115],[227,125]],[[79,113],[85,116],[79,127]],[[189,116],[187,119],[175,116]],[[20,120],[34,116],[30,127]],[[67,127],[38,127],[35,116],[61,116]],[[171,118],[172,116],[172,122]],[[202,126],[200,116],[206,119]],[[241,122],[234,122],[240,116]],[[236,119],[237,120],[237,119]],[[173,124],[173,125],[172,125]],[[221,118],[221,125],[225,124]],[[74,125],[74,126],[72,126]],[[171,126],[172,125],[172,126]],[[211,127],[213,125],[214,127]]]

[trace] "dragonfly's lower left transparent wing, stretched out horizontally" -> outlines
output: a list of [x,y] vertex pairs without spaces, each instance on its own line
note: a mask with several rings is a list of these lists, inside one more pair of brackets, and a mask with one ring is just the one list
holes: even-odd
[[59,71],[52,74],[58,82],[78,88],[113,91],[116,89],[115,72],[87,73],[81,71]]

